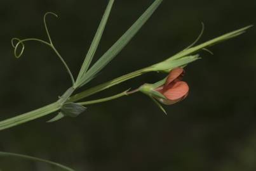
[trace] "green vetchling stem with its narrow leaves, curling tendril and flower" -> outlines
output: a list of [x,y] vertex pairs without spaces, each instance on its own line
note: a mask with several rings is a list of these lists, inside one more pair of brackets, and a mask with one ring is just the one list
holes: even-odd
[[[60,96],[57,101],[54,103],[51,103],[50,105],[44,106],[42,108],[38,108],[37,110],[29,111],[27,113],[24,113],[22,115],[18,115],[17,117],[9,118],[6,120],[3,120],[0,122],[0,130],[8,129],[10,127],[14,127],[20,124],[24,124],[25,122],[29,122],[30,120],[34,120],[39,117],[44,117],[46,115],[49,115],[51,113],[58,112],[58,115],[56,117],[53,117],[48,122],[57,121],[60,118],[63,117],[77,117],[81,113],[84,113],[86,110],[86,107],[91,104],[95,103],[102,103],[104,101],[110,101],[112,99],[120,98],[122,96],[128,96],[135,92],[144,92],[148,96],[150,96],[158,106],[163,110],[163,107],[160,105],[160,103],[170,105],[173,103],[173,101],[180,101],[180,99],[183,99],[186,96],[185,94],[180,94],[180,97],[175,99],[170,99],[170,94],[166,95],[165,91],[172,90],[173,87],[170,88],[170,86],[175,83],[175,86],[180,84],[177,79],[179,79],[180,75],[176,75],[175,79],[170,82],[170,80],[164,79],[156,84],[144,84],[142,87],[130,91],[126,90],[124,92],[121,92],[119,94],[116,94],[111,97],[102,98],[102,99],[95,99],[93,101],[81,101],[82,99],[87,98],[88,96],[91,96],[92,94],[95,94],[100,91],[104,91],[105,89],[108,89],[109,87],[112,87],[114,85],[120,84],[121,82],[125,82],[126,80],[133,79],[135,77],[138,77],[144,73],[148,72],[170,72],[170,77],[173,77],[172,70],[175,68],[184,68],[189,63],[192,63],[193,61],[198,60],[199,57],[199,51],[206,50],[207,47],[210,47],[214,44],[217,44],[222,41],[226,41],[227,39],[231,39],[233,37],[236,37],[240,34],[243,34],[246,29],[250,28],[251,26],[241,28],[239,30],[230,32],[228,34],[224,34],[220,37],[217,37],[215,39],[212,39],[211,41],[207,41],[203,44],[199,44],[198,46],[195,46],[196,42],[194,42],[191,46],[185,48],[184,50],[180,51],[179,53],[173,55],[172,57],[166,58],[165,61],[160,61],[159,63],[153,64],[151,66],[147,66],[145,68],[142,68],[140,70],[137,70],[135,72],[128,73],[126,75],[123,75],[121,77],[118,77],[116,79],[110,80],[109,82],[105,82],[103,84],[97,85],[95,87],[91,87],[90,89],[86,89],[83,92],[80,92],[78,94],[74,94],[74,91],[77,89],[83,89],[84,85],[86,85],[88,82],[93,80],[95,77],[97,77],[97,74],[102,71],[102,69],[118,55],[118,53],[130,42],[131,38],[137,34],[138,30],[144,25],[145,22],[150,18],[150,16],[156,11],[158,6],[162,3],[162,0],[155,0],[154,3],[147,8],[147,10],[138,18],[138,20],[131,25],[131,27],[123,34],[118,41],[116,41],[110,48],[107,50],[98,61],[96,61],[93,65],[91,65],[91,61],[93,60],[93,57],[95,56],[95,52],[97,50],[98,44],[100,42],[100,39],[102,37],[102,34],[104,32],[105,25],[107,23],[107,20],[109,18],[109,15],[111,13],[111,8],[114,3],[114,0],[109,0],[109,3],[107,5],[107,8],[105,9],[105,13],[102,17],[102,20],[100,22],[100,25],[98,26],[97,32],[95,34],[95,37],[93,38],[93,41],[91,42],[90,49],[88,50],[88,53],[85,56],[83,65],[81,66],[81,69],[79,71],[79,74],[77,75],[76,79],[74,78],[74,75],[72,74],[71,70],[69,69],[69,66],[67,63],[65,63],[64,58],[62,58],[61,54],[58,53],[57,49],[55,48],[53,42],[51,41],[50,33],[46,24],[46,16],[53,15],[56,16],[55,13],[46,13],[44,15],[44,27],[46,29],[46,34],[48,37],[47,41],[44,41],[42,39],[36,39],[36,38],[29,38],[29,39],[18,39],[13,38],[11,40],[12,46],[14,47],[14,54],[16,58],[20,58],[22,56],[22,53],[25,50],[25,43],[29,41],[36,41],[41,42],[42,44],[45,44],[46,46],[49,46],[53,51],[57,54],[60,61],[64,64],[67,73],[69,73],[69,76],[71,77],[72,86],[67,89],[67,91],[64,92],[62,96]],[[202,32],[201,32],[202,33]],[[166,83],[168,82],[169,83]],[[184,86],[184,83],[182,83]],[[169,87],[168,87],[169,86]],[[174,87],[175,87],[174,86]],[[160,87],[160,88],[159,88]],[[163,89],[163,90],[160,90]],[[177,89],[179,90],[179,89]],[[168,91],[168,92],[172,92]],[[184,89],[183,89],[184,91]],[[173,92],[175,94],[177,92]],[[160,102],[160,103],[159,103]],[[163,110],[164,111],[164,110]],[[87,111],[89,112],[89,111]]]

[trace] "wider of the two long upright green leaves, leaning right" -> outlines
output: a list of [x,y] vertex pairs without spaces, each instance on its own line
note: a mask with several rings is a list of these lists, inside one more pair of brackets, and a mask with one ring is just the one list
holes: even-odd
[[138,30],[144,25],[150,18],[154,11],[158,8],[163,0],[156,0],[151,6],[144,12],[140,18],[122,35],[122,37],[88,70],[83,79],[78,85],[83,86],[88,80],[95,74],[100,72],[105,65],[107,65],[113,58],[130,42]]

